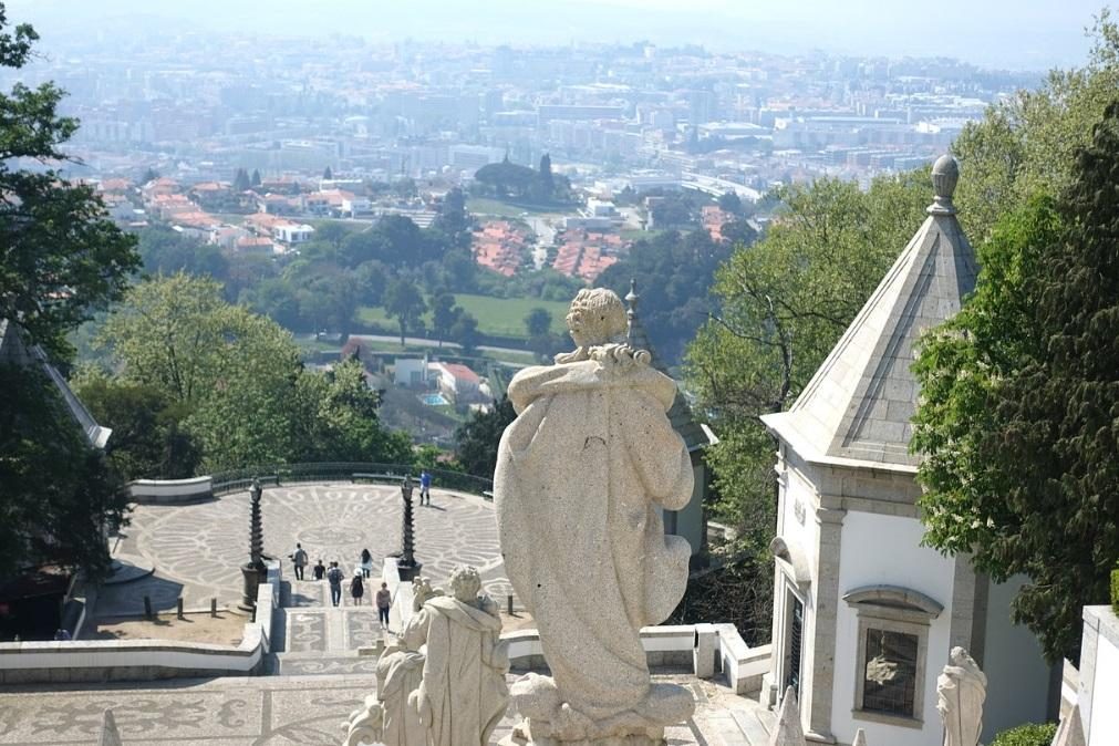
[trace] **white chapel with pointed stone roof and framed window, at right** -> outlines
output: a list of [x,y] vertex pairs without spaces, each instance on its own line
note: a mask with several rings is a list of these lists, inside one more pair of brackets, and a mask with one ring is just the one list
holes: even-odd
[[850,744],[863,728],[871,744],[940,746],[935,681],[955,645],[989,680],[986,743],[1046,719],[1057,699],[1036,639],[1010,623],[1019,584],[921,546],[913,346],[959,310],[977,274],[951,202],[956,161],[933,174],[921,229],[791,409],[763,417],[779,440],[780,498],[762,697],[793,687],[815,743]]

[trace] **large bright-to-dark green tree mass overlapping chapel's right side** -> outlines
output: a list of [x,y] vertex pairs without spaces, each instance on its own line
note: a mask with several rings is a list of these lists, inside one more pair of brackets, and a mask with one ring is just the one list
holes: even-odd
[[914,368],[925,540],[1027,575],[1014,617],[1054,661],[1079,659],[1081,608],[1119,561],[1119,102],[1070,178],[996,223],[975,295]]

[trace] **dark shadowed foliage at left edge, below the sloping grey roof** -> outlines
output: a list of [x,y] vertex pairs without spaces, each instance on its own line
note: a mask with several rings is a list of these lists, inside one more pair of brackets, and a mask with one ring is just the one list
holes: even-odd
[[0,577],[44,563],[104,577],[126,490],[37,366],[0,363]]

